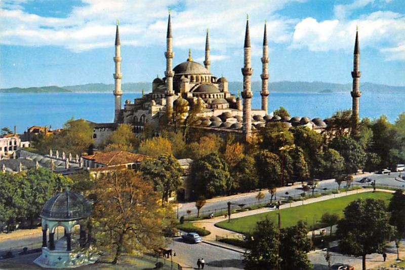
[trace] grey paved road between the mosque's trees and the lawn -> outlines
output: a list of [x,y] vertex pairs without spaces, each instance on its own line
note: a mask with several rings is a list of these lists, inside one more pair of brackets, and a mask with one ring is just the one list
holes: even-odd
[[[402,172],[401,175],[404,175],[405,172]],[[401,187],[402,189],[405,189],[405,180],[401,180],[398,177],[399,173],[391,173],[390,175],[387,174],[371,174],[368,175],[372,180],[376,180],[377,185],[387,185],[387,186],[392,186],[392,187]],[[358,181],[365,177],[364,175],[359,175],[359,176],[354,176],[354,181],[353,185],[361,185],[361,186],[367,186],[370,185],[370,183],[359,183]],[[318,193],[321,191],[327,191],[327,190],[336,190],[338,185],[334,180],[323,180],[320,181],[317,188],[315,188],[314,193]],[[345,183],[341,184],[341,190],[344,190]],[[270,194],[267,192],[267,190],[262,191],[265,194],[265,198],[262,200],[263,201],[269,201],[270,200]],[[288,192],[286,194],[286,192]],[[300,185],[296,186],[290,186],[290,187],[282,187],[282,191],[277,191],[276,196],[277,200],[285,200],[289,196],[299,196],[302,194],[304,191],[302,190]],[[312,192],[312,190],[308,191]],[[207,201],[206,205],[201,208],[202,214],[203,215],[208,215],[210,212],[217,212],[219,210],[226,210],[227,209],[227,202],[230,201],[233,204],[255,204],[257,203],[257,199],[255,196],[257,195],[257,192],[250,192],[247,194],[240,194],[238,196],[232,196],[232,197],[222,197],[222,198],[215,198],[214,200],[209,200]],[[192,214],[196,214],[196,208],[195,208],[195,203],[194,202],[189,202],[189,203],[184,203],[182,207],[179,209],[179,217],[180,216],[187,216],[187,210],[191,211]]]

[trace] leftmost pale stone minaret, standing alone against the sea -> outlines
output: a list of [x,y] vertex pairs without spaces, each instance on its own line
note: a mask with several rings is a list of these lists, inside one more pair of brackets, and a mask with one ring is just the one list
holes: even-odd
[[121,42],[119,41],[119,29],[118,29],[118,20],[117,20],[117,28],[115,32],[115,73],[114,76],[114,98],[115,98],[115,113],[114,113],[114,123],[119,121],[119,113],[121,111],[121,96],[123,95],[123,91],[121,91],[121,79],[123,78],[123,74],[121,73]]

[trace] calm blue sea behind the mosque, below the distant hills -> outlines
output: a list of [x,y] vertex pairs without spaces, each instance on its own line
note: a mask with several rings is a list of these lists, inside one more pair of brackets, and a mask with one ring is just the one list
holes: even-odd
[[[123,95],[133,101],[140,93]],[[292,116],[319,117],[325,119],[335,111],[351,108],[350,93],[270,93],[269,110],[279,106],[287,108]],[[253,108],[261,107],[261,97],[254,93]],[[404,94],[363,93],[360,98],[360,117],[378,118],[387,115],[394,122],[398,114],[405,111]],[[62,127],[70,118],[83,118],[93,122],[111,122],[114,118],[114,96],[112,93],[0,93],[0,128],[11,130],[17,126],[21,133],[27,127]]]

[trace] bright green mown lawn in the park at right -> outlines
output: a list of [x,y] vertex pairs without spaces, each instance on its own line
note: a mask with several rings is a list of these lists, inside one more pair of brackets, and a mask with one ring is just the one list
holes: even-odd
[[[282,209],[281,227],[293,226],[297,224],[299,220],[303,220],[308,223],[309,227],[314,226],[314,228],[319,228],[322,225],[319,223],[319,220],[324,213],[337,213],[341,217],[343,217],[343,209],[350,202],[356,199],[380,199],[386,201],[386,203],[388,204],[391,196],[392,195],[387,192],[365,192],[344,196],[337,199],[330,199],[318,203]],[[252,216],[234,218],[231,219],[230,223],[228,223],[228,221],[221,221],[216,223],[215,225],[220,228],[229,229],[237,233],[245,234],[249,233],[253,228],[255,228],[256,222],[264,220],[266,219],[266,217],[277,223],[277,213],[278,211],[272,211]]]

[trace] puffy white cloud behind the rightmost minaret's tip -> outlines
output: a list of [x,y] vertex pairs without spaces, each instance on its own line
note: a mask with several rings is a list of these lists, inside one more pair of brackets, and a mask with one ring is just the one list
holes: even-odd
[[295,27],[291,47],[310,51],[351,50],[356,25],[359,26],[360,48],[378,49],[386,54],[387,60],[403,60],[403,49],[400,48],[405,44],[405,16],[389,11],[374,12],[351,21],[318,22],[314,18],[305,18]]

